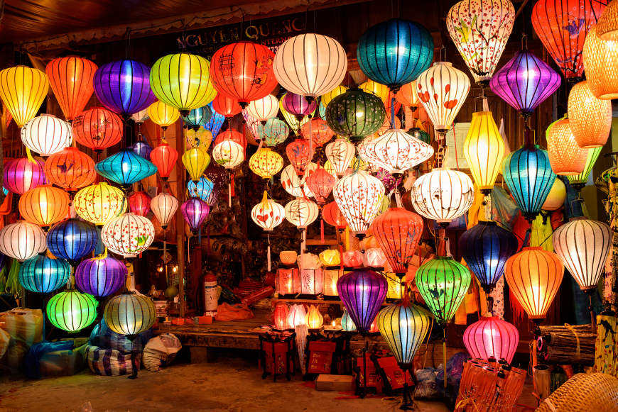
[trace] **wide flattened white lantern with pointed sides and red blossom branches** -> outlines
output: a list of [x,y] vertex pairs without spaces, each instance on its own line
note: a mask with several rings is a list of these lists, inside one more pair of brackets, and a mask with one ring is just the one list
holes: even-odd
[[366,143],[364,160],[392,174],[401,174],[433,156],[433,147],[401,129],[391,129]]

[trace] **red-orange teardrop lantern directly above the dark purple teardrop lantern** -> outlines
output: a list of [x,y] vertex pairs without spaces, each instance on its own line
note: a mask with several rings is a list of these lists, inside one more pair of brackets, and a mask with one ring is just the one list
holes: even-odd
[[372,232],[393,272],[403,276],[421,240],[423,218],[403,207],[389,208],[376,218]]

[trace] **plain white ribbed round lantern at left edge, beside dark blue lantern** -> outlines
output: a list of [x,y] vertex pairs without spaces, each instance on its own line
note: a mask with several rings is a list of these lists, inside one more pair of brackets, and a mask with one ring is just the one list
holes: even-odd
[[0,252],[19,262],[45,252],[45,249],[45,233],[33,223],[18,221],[0,230]]

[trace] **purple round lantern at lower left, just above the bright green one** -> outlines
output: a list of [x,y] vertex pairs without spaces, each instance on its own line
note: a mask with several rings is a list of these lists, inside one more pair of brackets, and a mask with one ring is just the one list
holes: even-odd
[[124,284],[128,271],[124,263],[112,255],[84,260],[75,269],[75,284],[80,291],[104,297],[118,291]]

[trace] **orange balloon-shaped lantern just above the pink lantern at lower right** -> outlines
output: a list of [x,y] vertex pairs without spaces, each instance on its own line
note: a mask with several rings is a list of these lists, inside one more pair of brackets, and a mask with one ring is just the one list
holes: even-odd
[[538,322],[545,318],[563,274],[560,257],[541,247],[524,247],[509,257],[504,267],[504,279],[511,293],[528,313],[528,318]]

